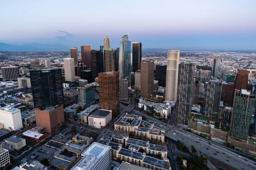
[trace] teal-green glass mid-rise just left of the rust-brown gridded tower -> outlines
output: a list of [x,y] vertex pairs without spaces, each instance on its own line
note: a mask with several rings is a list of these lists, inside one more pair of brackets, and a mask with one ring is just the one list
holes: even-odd
[[79,102],[85,103],[88,107],[95,101],[93,84],[84,85],[82,87],[78,87],[77,89]]

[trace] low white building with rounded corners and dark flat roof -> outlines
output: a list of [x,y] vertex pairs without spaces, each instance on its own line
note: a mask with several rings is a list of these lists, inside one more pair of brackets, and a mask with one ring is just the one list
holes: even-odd
[[112,121],[112,111],[99,109],[88,117],[88,125],[96,128],[106,128]]

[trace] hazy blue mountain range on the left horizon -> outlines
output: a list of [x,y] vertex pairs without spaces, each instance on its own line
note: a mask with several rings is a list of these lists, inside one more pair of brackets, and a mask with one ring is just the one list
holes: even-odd
[[69,51],[69,47],[61,44],[23,44],[10,45],[0,42],[0,51]]

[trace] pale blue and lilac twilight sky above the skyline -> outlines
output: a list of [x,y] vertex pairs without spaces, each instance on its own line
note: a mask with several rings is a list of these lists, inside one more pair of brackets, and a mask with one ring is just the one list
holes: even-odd
[[0,42],[256,50],[256,0],[1,0]]

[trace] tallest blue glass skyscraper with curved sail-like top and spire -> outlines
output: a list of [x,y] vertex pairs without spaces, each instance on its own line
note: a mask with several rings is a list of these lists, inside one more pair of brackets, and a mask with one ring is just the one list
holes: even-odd
[[124,35],[120,41],[119,76],[129,78],[131,72],[131,41]]

